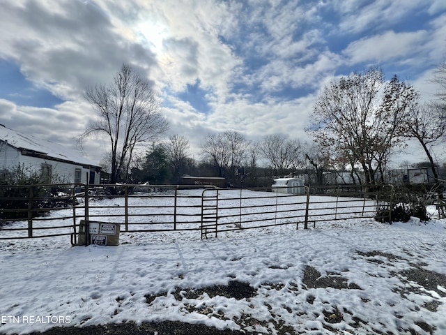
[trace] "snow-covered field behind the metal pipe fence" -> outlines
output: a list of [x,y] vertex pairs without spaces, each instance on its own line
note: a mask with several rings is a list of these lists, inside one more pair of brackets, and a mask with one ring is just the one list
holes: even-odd
[[[77,200],[75,214],[77,225],[79,225],[80,219],[84,218],[85,206],[83,198],[77,198]],[[307,195],[288,195],[247,189],[209,188],[206,191],[181,189],[177,196],[174,189],[136,193],[128,198],[128,231],[197,230],[196,234],[199,235],[202,215],[210,217],[210,223],[215,223],[217,216],[219,232],[272,225],[296,225],[297,223],[300,228],[303,228],[306,205]],[[215,207],[218,207],[218,211],[215,211]],[[374,200],[361,197],[337,198],[333,195],[311,195],[308,222],[309,225],[314,225],[319,221],[373,217],[375,207]],[[91,198],[89,218],[90,221],[121,223],[121,231],[123,231],[125,230],[123,226],[125,209],[124,197]],[[43,218],[34,218],[33,236],[69,234],[72,232],[72,217],[72,209],[62,209],[53,211],[51,215]],[[54,222],[51,223],[49,220]],[[28,236],[27,221],[10,223],[3,228],[13,230],[0,230],[1,237]]]

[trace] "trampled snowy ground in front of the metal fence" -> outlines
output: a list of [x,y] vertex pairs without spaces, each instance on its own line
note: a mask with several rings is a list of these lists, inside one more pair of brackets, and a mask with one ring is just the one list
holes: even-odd
[[0,243],[1,334],[162,320],[249,334],[446,334],[445,219]]

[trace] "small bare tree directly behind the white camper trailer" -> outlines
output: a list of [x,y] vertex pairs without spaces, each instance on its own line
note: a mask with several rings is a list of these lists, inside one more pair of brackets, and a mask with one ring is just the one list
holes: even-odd
[[284,177],[304,161],[299,140],[287,140],[283,135],[266,136],[259,150],[276,177]]

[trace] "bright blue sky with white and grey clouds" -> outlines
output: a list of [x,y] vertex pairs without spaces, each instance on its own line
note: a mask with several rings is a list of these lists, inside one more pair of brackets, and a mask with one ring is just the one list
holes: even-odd
[[[211,132],[307,140],[318,91],[369,66],[429,99],[436,91],[429,78],[446,58],[444,0],[0,5],[0,124],[67,147],[95,116],[85,89],[110,82],[123,63],[147,75],[169,135],[187,137],[199,158],[194,148]],[[89,158],[100,161],[104,143],[92,137]]]

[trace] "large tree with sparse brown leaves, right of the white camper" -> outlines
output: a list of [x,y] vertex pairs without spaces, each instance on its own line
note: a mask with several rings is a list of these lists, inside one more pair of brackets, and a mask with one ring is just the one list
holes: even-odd
[[307,131],[321,147],[361,165],[366,183],[375,184],[377,172],[383,181],[392,150],[404,145],[401,125],[416,99],[413,87],[397,76],[386,82],[376,68],[353,73],[323,89]]

